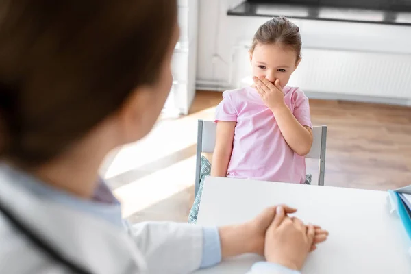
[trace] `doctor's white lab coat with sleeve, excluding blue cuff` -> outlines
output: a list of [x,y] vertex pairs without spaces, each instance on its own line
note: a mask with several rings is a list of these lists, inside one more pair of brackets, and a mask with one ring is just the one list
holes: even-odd
[[[0,199],[25,225],[91,273],[190,273],[201,264],[203,229],[140,223],[121,229],[31,195],[0,173]],[[0,214],[0,273],[70,273],[32,245]]]

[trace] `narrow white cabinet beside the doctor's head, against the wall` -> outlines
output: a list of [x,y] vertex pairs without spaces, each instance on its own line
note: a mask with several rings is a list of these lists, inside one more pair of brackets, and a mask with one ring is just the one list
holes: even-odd
[[171,62],[173,87],[163,112],[188,114],[195,97],[198,0],[178,1],[178,23],[180,37]]

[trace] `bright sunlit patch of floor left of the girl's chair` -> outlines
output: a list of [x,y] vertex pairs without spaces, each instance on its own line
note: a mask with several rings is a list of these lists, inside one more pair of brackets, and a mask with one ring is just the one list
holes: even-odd
[[[211,107],[177,119],[162,116],[146,138],[108,155],[101,175],[124,182],[115,188],[114,195],[122,201],[125,218],[186,219],[194,196],[188,191],[195,180],[197,120],[212,120],[214,112]],[[182,151],[184,157],[173,158]]]

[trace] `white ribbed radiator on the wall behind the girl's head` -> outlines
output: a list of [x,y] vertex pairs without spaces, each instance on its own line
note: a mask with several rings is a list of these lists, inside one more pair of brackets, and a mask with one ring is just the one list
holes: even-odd
[[[249,76],[247,50],[236,51],[232,71],[240,84]],[[411,55],[303,49],[289,86],[306,92],[411,99]]]

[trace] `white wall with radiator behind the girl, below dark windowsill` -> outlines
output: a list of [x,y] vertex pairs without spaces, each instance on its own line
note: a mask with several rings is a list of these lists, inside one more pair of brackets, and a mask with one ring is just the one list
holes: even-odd
[[[229,7],[241,2],[199,1],[198,88],[235,88],[249,74],[247,46],[256,29],[269,18],[227,16]],[[303,61],[290,79],[293,86],[316,97],[381,97],[386,102],[411,99],[411,27],[294,22],[301,31]]]

